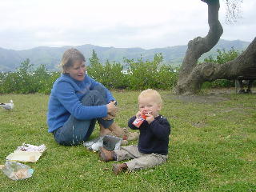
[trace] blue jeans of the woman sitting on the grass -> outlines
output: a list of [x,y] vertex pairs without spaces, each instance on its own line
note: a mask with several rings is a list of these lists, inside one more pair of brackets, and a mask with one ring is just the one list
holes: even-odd
[[[95,86],[94,90],[86,93],[81,102],[84,106],[106,105],[106,90],[102,86]],[[64,125],[54,132],[55,141],[63,146],[75,146],[85,142],[92,134],[96,120],[105,128],[114,122],[114,120],[103,120],[102,118],[78,120],[70,115]]]

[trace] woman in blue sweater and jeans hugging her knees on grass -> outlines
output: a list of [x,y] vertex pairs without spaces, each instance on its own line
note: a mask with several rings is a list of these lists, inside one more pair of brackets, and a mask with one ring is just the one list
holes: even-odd
[[74,48],[66,50],[60,65],[62,75],[51,90],[48,132],[53,133],[55,141],[64,146],[86,141],[96,121],[100,126],[100,135],[128,136],[114,123],[118,107],[110,90],[86,74],[85,62],[80,51]]

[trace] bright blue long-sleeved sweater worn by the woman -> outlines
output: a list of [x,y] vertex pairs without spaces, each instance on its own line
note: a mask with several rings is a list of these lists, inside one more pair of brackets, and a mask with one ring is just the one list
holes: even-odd
[[[62,127],[70,117],[70,114],[80,120],[106,117],[106,105],[83,106],[80,102],[88,90],[92,90],[94,86],[98,85],[102,86],[102,84],[95,82],[87,74],[83,81],[75,80],[68,74],[62,74],[54,82],[50,93],[47,113],[48,132],[52,133],[54,130]],[[106,102],[115,100],[107,89],[106,95]]]

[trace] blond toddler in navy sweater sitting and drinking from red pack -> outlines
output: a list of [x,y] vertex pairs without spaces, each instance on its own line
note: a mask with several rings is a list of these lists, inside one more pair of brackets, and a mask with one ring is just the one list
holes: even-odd
[[[100,159],[109,161],[130,161],[113,165],[114,174],[123,170],[140,170],[158,166],[167,160],[170,123],[159,114],[162,98],[156,90],[143,90],[138,96],[138,113],[130,118],[128,126],[139,130],[138,146],[121,146],[120,150],[109,151],[100,147]],[[145,118],[140,126],[134,123]],[[136,120],[135,120],[136,119]]]

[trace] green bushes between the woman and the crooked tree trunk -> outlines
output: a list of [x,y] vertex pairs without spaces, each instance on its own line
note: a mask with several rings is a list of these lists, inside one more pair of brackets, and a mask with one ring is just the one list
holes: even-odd
[[162,60],[162,54],[155,54],[153,61],[146,62],[143,62],[142,58],[139,58],[137,62],[134,59],[124,58],[128,71],[125,74],[124,68],[119,62],[106,61],[103,66],[93,50],[87,73],[109,89],[170,90],[177,83],[178,69],[162,65]]

